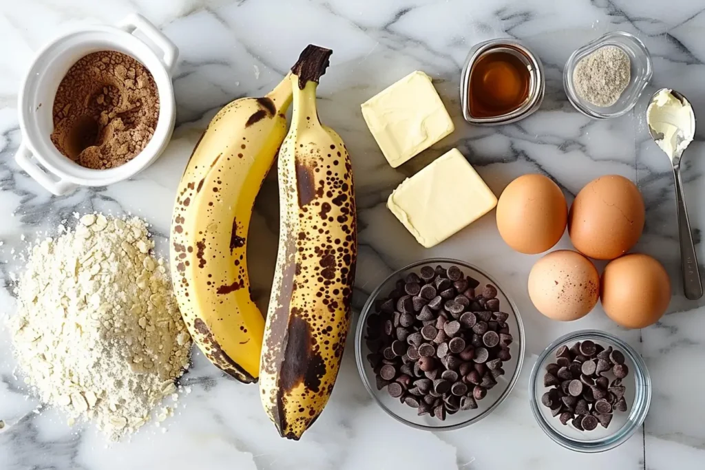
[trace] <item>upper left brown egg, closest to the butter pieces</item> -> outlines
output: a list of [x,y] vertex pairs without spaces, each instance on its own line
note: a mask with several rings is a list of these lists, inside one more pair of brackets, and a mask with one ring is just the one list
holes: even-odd
[[523,175],[505,188],[497,202],[497,228],[517,252],[537,254],[558,243],[568,221],[560,187],[544,175]]

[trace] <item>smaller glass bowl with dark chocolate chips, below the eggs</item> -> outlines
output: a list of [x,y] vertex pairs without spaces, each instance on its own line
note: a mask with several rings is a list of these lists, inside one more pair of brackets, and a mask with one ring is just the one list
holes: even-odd
[[548,345],[529,384],[541,429],[578,452],[624,443],[644,423],[651,402],[644,359],[620,338],[598,330],[570,333]]

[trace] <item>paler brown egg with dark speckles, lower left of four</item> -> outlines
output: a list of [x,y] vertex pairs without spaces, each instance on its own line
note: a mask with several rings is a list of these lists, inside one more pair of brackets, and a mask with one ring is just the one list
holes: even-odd
[[546,254],[529,273],[529,297],[549,319],[572,321],[595,307],[600,275],[582,254],[560,249]]

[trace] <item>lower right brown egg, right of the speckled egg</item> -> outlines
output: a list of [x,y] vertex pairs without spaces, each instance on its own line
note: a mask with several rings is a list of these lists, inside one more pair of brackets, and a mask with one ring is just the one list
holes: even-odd
[[602,273],[602,307],[625,328],[645,328],[666,313],[670,279],[661,263],[646,254],[610,261]]

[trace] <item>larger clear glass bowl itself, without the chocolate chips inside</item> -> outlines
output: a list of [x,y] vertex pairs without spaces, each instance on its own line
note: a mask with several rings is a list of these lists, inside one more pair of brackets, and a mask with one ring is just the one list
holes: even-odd
[[[456,414],[449,414],[445,421],[441,421],[429,415],[417,416],[417,410],[415,408],[408,407],[397,398],[391,397],[386,388],[377,390],[374,371],[372,370],[372,366],[369,365],[369,361],[367,361],[367,354],[370,352],[369,347],[367,347],[367,342],[365,341],[367,334],[367,317],[375,313],[376,301],[378,299],[385,299],[388,293],[394,289],[397,280],[403,280],[406,278],[407,274],[412,272],[418,274],[419,269],[425,265],[434,267],[440,265],[443,266],[443,268],[449,268],[455,265],[462,270],[465,276],[471,276],[478,280],[480,285],[494,285],[497,288],[497,298],[500,302],[501,311],[509,314],[507,324],[510,334],[513,336],[513,341],[509,347],[512,357],[502,366],[505,370],[505,375],[497,378],[497,385],[488,390],[483,400],[477,401],[479,405],[477,409],[461,410]],[[408,426],[412,426],[412,428],[422,429],[424,431],[450,431],[459,429],[470,426],[472,423],[477,423],[477,421],[488,416],[506,397],[508,397],[509,393],[514,388],[524,361],[524,348],[524,326],[519,316],[519,311],[496,280],[476,266],[472,266],[472,264],[446,258],[424,259],[423,261],[417,261],[392,273],[367,299],[362,313],[360,314],[360,319],[357,322],[357,330],[355,331],[355,360],[357,361],[357,370],[360,371],[362,383],[364,383],[365,388],[367,388],[369,395],[372,395],[374,401],[379,404],[389,416],[392,416],[397,421],[405,423]]]

